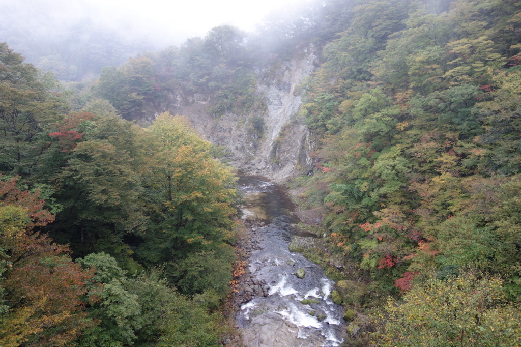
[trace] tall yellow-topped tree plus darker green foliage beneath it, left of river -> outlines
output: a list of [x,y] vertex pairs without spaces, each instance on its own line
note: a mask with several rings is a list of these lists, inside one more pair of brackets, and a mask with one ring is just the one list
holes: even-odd
[[143,187],[150,223],[137,255],[147,264],[169,262],[172,282],[183,293],[225,292],[237,212],[232,173],[181,117],[164,113],[145,135]]

